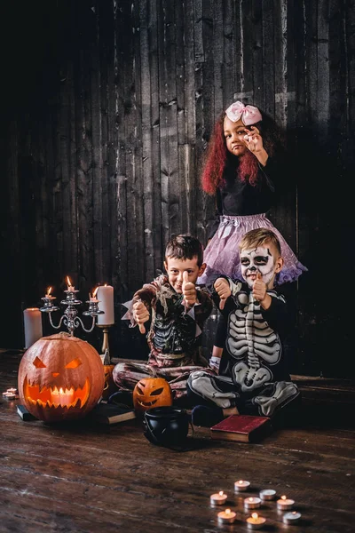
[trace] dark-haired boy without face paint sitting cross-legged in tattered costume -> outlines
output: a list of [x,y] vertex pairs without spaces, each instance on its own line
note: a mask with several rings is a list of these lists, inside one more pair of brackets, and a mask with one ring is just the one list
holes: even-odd
[[[201,330],[213,303],[207,290],[195,286],[206,267],[200,241],[190,235],[174,236],[166,247],[164,267],[167,274],[143,285],[123,316],[130,319],[130,327],[138,324],[142,334],[146,333],[146,322],[151,321],[148,362],[118,363],[113,377],[122,393],[131,392],[142,378],[165,378],[174,400],[180,400],[186,396],[190,373],[208,367],[200,353]],[[127,402],[127,394],[121,397]]]

